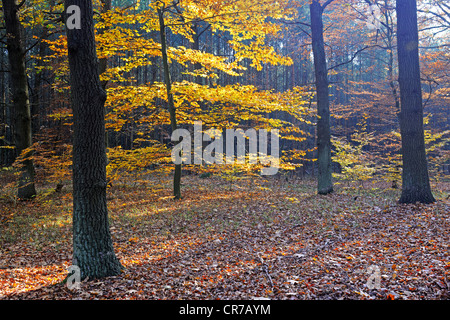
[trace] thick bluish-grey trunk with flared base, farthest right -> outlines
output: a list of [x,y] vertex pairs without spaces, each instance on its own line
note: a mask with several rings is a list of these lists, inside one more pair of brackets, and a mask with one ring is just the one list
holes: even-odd
[[401,203],[431,203],[423,131],[422,88],[416,0],[397,0],[400,133],[402,136]]

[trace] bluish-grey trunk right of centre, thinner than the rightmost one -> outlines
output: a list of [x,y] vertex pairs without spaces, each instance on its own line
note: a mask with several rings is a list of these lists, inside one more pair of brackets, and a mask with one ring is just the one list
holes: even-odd
[[328,194],[333,192],[331,177],[331,132],[330,102],[328,89],[328,70],[323,40],[323,7],[319,1],[310,4],[311,36],[314,55],[314,71],[316,76],[317,95],[317,192]]

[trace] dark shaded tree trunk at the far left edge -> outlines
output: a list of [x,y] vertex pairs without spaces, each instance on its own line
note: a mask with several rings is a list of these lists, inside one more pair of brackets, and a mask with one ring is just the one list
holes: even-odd
[[[31,147],[31,110],[25,67],[25,51],[23,47],[19,6],[16,0],[3,0],[3,13],[7,34],[7,49],[11,71],[12,103],[15,114],[15,145],[17,156]],[[32,152],[24,154],[21,162],[21,173],[17,196],[19,199],[31,199],[36,196],[34,186],[34,167]]]

